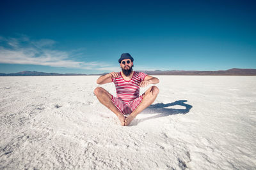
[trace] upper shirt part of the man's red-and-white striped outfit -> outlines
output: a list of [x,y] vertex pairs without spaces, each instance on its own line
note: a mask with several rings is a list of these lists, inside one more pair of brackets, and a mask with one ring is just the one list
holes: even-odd
[[142,72],[133,72],[132,78],[129,81],[124,80],[121,72],[117,78],[112,78],[116,86],[116,97],[124,103],[128,104],[140,96],[140,86],[138,83],[144,81],[147,74]]

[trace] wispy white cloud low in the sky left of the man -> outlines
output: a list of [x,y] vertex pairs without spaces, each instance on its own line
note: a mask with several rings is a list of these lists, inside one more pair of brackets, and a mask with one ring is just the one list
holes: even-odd
[[[116,69],[116,67],[111,67],[111,65],[101,62],[72,60],[72,56],[77,54],[52,50],[52,46],[56,44],[56,41],[52,39],[32,41],[26,36],[22,36],[22,38],[4,38],[0,36],[0,43],[3,44],[3,46],[0,46],[0,63],[33,64],[102,71]],[[83,55],[83,53],[79,53],[79,55]]]

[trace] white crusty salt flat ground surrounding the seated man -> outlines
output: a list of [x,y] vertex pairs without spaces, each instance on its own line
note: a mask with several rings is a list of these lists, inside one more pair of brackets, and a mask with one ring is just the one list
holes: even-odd
[[256,76],[157,76],[129,127],[97,78],[0,77],[0,169],[256,169]]

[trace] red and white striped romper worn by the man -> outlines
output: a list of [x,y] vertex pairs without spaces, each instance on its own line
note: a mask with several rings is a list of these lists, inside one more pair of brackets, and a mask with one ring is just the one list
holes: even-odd
[[129,81],[124,80],[121,72],[117,78],[112,78],[116,86],[116,97],[112,96],[111,100],[122,114],[131,114],[140,105],[142,95],[138,83],[144,81],[146,76],[145,73],[134,71]]

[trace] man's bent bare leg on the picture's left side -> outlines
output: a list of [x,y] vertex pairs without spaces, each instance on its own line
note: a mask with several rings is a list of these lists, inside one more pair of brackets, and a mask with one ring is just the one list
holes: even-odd
[[102,87],[97,87],[94,90],[94,94],[95,94],[95,96],[97,96],[100,103],[102,103],[104,106],[109,108],[109,110],[111,110],[115,113],[115,115],[119,118],[121,125],[125,125],[125,117],[124,117],[124,115],[122,115],[122,113],[120,113],[120,111],[118,111],[116,109],[115,105],[112,103],[111,94],[109,94],[109,92],[107,90],[103,89]]

